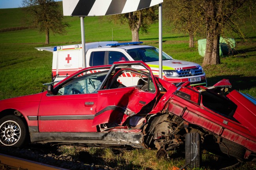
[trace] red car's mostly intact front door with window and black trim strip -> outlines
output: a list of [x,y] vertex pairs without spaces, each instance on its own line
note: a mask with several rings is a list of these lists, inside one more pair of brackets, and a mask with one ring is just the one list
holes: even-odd
[[[96,75],[95,75],[96,74]],[[40,132],[96,132],[92,127],[97,90],[104,73],[82,75],[64,83],[55,95],[43,95],[39,106]]]

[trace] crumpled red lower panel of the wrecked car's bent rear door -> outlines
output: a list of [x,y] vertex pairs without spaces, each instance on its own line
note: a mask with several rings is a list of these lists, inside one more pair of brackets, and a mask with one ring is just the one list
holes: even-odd
[[156,93],[144,92],[135,87],[100,90],[98,91],[97,113],[92,125],[110,122],[121,125],[129,116],[137,114],[155,97]]

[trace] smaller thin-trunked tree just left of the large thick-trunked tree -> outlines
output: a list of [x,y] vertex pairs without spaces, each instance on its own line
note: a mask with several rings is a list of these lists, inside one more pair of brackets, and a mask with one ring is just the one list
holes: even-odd
[[174,24],[176,30],[189,35],[189,47],[194,47],[194,35],[201,26],[201,15],[197,10],[197,1],[165,0],[163,17],[168,24]]

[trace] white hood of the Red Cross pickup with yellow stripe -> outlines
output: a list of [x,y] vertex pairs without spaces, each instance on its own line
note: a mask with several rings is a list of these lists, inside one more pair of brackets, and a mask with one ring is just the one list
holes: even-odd
[[[159,62],[147,62],[149,67],[159,68]],[[183,60],[163,60],[163,70],[179,70],[179,69],[191,69],[201,67],[199,64],[193,62],[187,62]]]

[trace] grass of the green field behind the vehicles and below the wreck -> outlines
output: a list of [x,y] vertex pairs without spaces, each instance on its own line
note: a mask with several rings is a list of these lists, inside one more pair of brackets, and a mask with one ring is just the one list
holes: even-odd
[[[28,26],[23,16],[21,9],[0,9],[0,29]],[[65,21],[70,24],[66,34],[50,34],[51,44],[47,46],[81,43],[80,19],[65,17]],[[202,64],[203,58],[198,54],[197,47],[188,48],[188,35],[173,32],[171,28],[172,25],[166,25],[164,22],[163,50],[175,59]],[[110,22],[108,17],[86,17],[85,41],[111,41],[112,29],[114,41],[131,40],[132,35],[128,25],[115,24]],[[244,29],[251,40],[243,42],[235,37],[237,42],[235,55],[221,57],[221,64],[207,66],[204,70],[209,86],[226,78],[230,80],[234,89],[256,97],[256,33],[250,26]],[[158,47],[158,23],[151,26],[149,34],[140,34],[140,41]],[[52,54],[34,49],[45,47],[44,42],[45,35],[40,34],[37,29],[0,32],[0,99],[38,93],[43,83],[51,82]],[[173,169],[184,165],[184,155],[177,156],[171,161],[158,161],[155,159],[155,151],[138,149],[120,153],[106,149],[102,151],[101,156],[104,157],[105,162],[109,161],[109,164],[115,163],[120,167],[143,170]],[[128,159],[131,157],[133,159]],[[218,157],[204,156],[202,169],[216,169],[214,163],[209,160],[223,163]],[[242,164],[238,169],[252,168],[256,169],[256,166]]]

